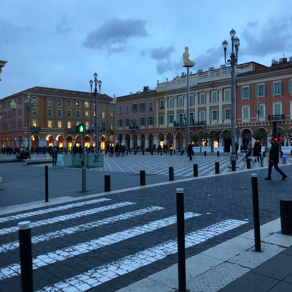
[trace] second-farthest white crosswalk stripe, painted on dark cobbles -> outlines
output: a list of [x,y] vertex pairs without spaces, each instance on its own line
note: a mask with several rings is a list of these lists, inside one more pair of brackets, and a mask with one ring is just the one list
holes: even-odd
[[[107,210],[111,210],[111,209],[115,209],[115,208],[120,208],[120,207],[124,207],[124,206],[128,206],[128,205],[133,205],[133,204],[136,204],[136,203],[123,202],[123,203],[113,204],[113,205],[109,205],[109,206],[93,208],[91,210],[76,212],[73,214],[62,215],[62,216],[58,216],[58,217],[54,217],[54,218],[49,218],[46,220],[32,222],[30,226],[31,227],[38,227],[38,226],[42,226],[42,225],[53,224],[53,223],[57,223],[60,221],[71,220],[74,218],[79,218],[79,217],[83,217],[86,215],[91,215],[91,214],[95,214],[95,213],[99,213],[99,212],[103,212],[103,211],[107,211]],[[0,235],[9,234],[9,233],[17,232],[17,231],[18,231],[18,226],[4,228],[4,229],[0,229]]]

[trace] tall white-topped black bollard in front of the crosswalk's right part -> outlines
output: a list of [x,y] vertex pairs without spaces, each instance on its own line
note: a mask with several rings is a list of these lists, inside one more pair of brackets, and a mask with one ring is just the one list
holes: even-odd
[[185,276],[185,211],[183,189],[176,189],[176,221],[178,230],[178,291],[186,291]]

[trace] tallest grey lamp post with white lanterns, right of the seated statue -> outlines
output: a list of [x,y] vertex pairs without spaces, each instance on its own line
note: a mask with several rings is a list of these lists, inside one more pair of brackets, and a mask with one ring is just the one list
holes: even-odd
[[[223,41],[222,46],[224,50],[224,57],[225,57],[225,63],[227,65],[231,65],[231,155],[230,155],[230,164],[231,166],[228,166],[228,168],[232,168],[232,161],[234,160],[236,163],[236,153],[235,153],[235,66],[237,65],[237,54],[238,54],[238,48],[239,48],[239,38],[235,36],[236,32],[234,29],[231,29],[230,31],[230,37],[231,37],[231,46],[232,46],[232,52],[230,55],[230,59],[226,61],[226,51],[228,42],[226,40]],[[235,53],[234,53],[234,47],[235,47]]]

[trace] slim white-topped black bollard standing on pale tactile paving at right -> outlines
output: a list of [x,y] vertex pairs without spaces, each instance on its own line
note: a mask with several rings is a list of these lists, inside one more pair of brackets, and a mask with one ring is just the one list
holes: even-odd
[[253,194],[253,227],[255,235],[255,250],[260,252],[260,210],[258,204],[258,175],[251,174],[251,189]]

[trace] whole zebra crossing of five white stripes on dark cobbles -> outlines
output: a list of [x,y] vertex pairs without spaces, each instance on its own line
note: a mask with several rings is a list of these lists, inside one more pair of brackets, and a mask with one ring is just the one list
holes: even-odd
[[[205,225],[206,216],[185,212],[185,221],[188,226]],[[203,223],[199,224],[200,218]],[[100,198],[13,214],[0,218],[1,291],[20,291],[17,223],[23,219],[31,221],[38,292],[87,291],[141,267],[159,265],[177,252],[176,214],[166,206]],[[188,230],[186,248],[248,223],[241,219],[227,218]]]

